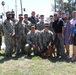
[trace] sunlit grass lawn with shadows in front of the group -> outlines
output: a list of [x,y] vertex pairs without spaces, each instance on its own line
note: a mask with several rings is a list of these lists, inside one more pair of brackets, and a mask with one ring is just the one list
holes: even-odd
[[26,59],[19,56],[5,59],[0,56],[0,75],[76,75],[76,62],[59,58]]

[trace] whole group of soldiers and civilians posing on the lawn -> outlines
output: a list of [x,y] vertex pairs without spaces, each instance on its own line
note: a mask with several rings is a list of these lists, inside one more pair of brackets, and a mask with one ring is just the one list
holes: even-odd
[[73,11],[72,19],[64,11],[61,15],[55,12],[50,15],[49,23],[45,22],[44,15],[35,17],[35,11],[32,11],[31,17],[19,14],[19,20],[10,11],[6,13],[6,17],[3,28],[0,28],[4,33],[5,57],[11,57],[13,53],[31,57],[32,51],[35,56],[40,56],[49,45],[55,45],[57,57],[70,59],[69,45],[73,44],[72,60],[76,60],[76,34],[72,33],[72,27],[76,26],[76,11]]

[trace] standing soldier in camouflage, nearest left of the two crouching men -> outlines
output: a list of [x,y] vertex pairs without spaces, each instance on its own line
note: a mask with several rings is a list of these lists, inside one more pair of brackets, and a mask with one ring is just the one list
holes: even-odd
[[23,23],[23,15],[19,14],[19,21],[15,24],[15,34],[17,39],[17,49],[16,49],[16,55],[19,55],[21,53],[24,53],[24,38],[25,38],[25,32],[24,32],[24,23]]

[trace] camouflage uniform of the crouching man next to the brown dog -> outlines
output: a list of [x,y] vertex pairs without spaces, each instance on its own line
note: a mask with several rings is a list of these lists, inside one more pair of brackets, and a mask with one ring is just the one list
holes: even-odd
[[48,31],[45,31],[45,29],[42,30],[41,31],[41,46],[43,47],[43,49],[41,50],[41,53],[44,53],[45,50],[47,50],[48,45],[53,43],[53,41],[54,41],[53,33],[50,30]]

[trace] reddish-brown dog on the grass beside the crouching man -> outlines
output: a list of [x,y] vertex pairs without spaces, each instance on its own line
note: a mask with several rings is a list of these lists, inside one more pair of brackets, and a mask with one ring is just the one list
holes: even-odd
[[43,57],[48,57],[48,56],[50,56],[50,57],[55,57],[55,47],[54,46],[52,46],[52,45],[49,45],[48,47],[47,47],[47,50],[44,52],[44,53],[42,53],[41,54],[41,57],[43,58]]

